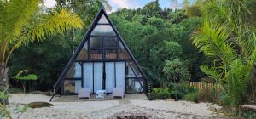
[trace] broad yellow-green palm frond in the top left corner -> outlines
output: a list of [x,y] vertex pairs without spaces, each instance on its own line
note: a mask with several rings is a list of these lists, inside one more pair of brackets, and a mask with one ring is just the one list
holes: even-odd
[[38,11],[40,0],[11,0],[3,9],[4,36],[3,39],[12,42],[11,39],[19,37],[22,27],[26,26],[32,14]]

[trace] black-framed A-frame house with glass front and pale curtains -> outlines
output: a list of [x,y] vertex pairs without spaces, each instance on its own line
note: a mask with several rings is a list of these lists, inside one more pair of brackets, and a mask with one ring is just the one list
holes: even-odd
[[61,95],[77,94],[79,88],[90,88],[92,94],[104,89],[111,94],[115,87],[123,88],[125,94],[148,96],[150,92],[148,77],[101,8],[55,83],[54,94],[59,90]]

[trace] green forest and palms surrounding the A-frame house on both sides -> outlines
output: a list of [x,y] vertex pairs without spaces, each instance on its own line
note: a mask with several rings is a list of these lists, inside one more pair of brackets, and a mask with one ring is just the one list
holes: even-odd
[[114,12],[107,0],[56,2],[31,0],[18,17],[25,1],[0,1],[3,105],[14,88],[51,92],[102,6],[152,82],[150,98],[212,102],[236,115],[256,104],[255,0],[184,0],[175,10],[156,0]]

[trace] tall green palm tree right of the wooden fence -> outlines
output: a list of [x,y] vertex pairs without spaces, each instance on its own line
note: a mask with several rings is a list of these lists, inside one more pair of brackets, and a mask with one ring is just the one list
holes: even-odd
[[256,61],[255,26],[247,2],[202,3],[203,22],[193,37],[195,47],[215,59],[212,67],[201,66],[201,70],[223,84],[226,99],[236,108],[244,102]]

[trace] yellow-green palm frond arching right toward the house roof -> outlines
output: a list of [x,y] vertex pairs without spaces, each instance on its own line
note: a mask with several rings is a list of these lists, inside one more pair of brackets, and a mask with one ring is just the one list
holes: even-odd
[[43,40],[44,37],[72,30],[73,28],[82,28],[83,25],[83,21],[78,15],[61,9],[60,13],[48,14],[27,28],[24,35],[15,43],[15,47],[20,47],[22,43]]

